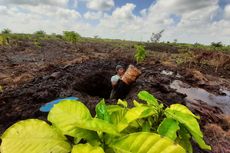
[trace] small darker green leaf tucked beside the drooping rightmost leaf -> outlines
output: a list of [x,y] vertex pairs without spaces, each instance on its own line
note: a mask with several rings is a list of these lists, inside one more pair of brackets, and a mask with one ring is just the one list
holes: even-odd
[[179,123],[176,120],[172,118],[165,118],[159,125],[157,132],[162,136],[175,140],[179,129]]

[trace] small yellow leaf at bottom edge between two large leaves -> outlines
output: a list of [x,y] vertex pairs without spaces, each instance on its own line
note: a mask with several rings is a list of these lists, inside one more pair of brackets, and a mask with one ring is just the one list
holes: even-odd
[[91,146],[87,143],[73,146],[71,153],[104,153],[104,150],[101,147]]

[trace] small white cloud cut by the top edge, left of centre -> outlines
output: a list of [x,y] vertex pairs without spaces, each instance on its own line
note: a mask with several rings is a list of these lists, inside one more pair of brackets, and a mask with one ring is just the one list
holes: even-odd
[[112,9],[115,4],[113,0],[88,0],[87,8],[96,11],[108,11]]

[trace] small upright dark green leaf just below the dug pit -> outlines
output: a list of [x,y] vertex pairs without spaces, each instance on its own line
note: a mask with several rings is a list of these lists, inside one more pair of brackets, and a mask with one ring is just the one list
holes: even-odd
[[102,99],[96,106],[96,114],[99,119],[110,122],[110,116],[105,105],[105,100]]

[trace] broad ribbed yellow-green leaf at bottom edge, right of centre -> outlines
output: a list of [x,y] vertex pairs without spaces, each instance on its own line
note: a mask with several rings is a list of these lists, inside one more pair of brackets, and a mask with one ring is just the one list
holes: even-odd
[[126,135],[111,145],[116,153],[186,153],[169,138],[149,132]]

